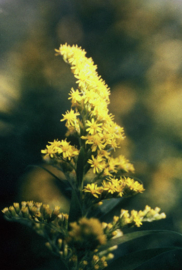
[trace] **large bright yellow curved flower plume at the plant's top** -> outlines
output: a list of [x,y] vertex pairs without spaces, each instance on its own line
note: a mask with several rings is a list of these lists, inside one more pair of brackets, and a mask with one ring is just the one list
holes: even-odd
[[118,170],[133,172],[133,165],[124,157],[113,160],[110,151],[119,147],[124,139],[123,128],[113,121],[109,114],[110,90],[98,75],[92,58],[85,56],[85,51],[78,46],[61,45],[57,54],[71,65],[77,79],[78,89],[71,89],[72,107],[63,115],[66,121],[67,134],[77,134],[81,138],[81,146],[91,150],[88,164],[95,174],[112,175]]

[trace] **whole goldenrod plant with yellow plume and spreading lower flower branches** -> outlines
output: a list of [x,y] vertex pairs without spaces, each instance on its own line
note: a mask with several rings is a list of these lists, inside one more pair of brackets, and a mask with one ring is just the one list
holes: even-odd
[[[150,233],[138,231],[125,237],[124,228],[140,227],[166,215],[158,207],[145,206],[140,211],[121,209],[110,223],[103,221],[105,204],[109,213],[115,201],[142,193],[144,187],[131,177],[134,166],[123,155],[113,157],[125,138],[124,130],[109,113],[110,90],[92,58],[77,45],[61,45],[56,54],[70,64],[78,88],[71,89],[71,109],[61,119],[66,122],[67,138],[49,142],[41,152],[46,162],[65,175],[66,180],[60,181],[70,193],[69,213],[33,201],[14,203],[2,212],[8,220],[27,223],[45,237],[46,246],[66,269],[103,269],[114,261],[118,245]],[[73,136],[77,145],[69,140]],[[124,264],[121,269],[125,269]]]

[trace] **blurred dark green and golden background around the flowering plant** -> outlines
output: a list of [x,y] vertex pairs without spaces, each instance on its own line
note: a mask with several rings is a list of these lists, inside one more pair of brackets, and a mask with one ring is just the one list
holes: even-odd
[[[146,188],[123,205],[166,212],[142,229],[182,232],[180,0],[0,0],[1,209],[31,199],[67,206],[57,183],[35,167],[47,141],[65,133],[60,119],[75,80],[54,56],[65,42],[82,46],[111,88],[110,112],[126,133],[117,154]],[[29,229],[2,215],[0,226],[1,269],[59,269]]]

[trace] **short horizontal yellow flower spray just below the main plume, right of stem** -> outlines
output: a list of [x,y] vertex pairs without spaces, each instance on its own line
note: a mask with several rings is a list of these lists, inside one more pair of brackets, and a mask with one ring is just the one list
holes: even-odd
[[[83,189],[85,196],[91,194],[96,200],[131,196],[144,191],[143,185],[130,177],[120,179],[110,178],[104,180],[100,186],[87,184]],[[97,200],[97,201],[98,201]]]

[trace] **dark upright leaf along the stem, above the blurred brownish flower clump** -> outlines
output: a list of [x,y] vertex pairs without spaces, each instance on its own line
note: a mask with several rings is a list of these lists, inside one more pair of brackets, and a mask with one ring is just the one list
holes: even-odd
[[79,200],[79,195],[76,190],[72,189],[72,197],[70,204],[70,212],[69,212],[69,223],[78,221],[78,219],[82,217],[82,207]]

